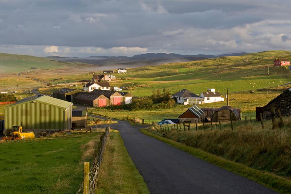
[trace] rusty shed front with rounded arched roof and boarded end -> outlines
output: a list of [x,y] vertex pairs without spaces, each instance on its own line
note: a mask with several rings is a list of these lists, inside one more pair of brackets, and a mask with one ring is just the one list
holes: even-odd
[[238,121],[240,119],[240,114],[235,108],[222,106],[213,113],[211,122],[229,122],[230,120]]

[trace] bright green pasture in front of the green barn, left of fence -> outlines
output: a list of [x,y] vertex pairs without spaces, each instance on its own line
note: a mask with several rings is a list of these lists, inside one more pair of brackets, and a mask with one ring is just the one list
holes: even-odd
[[[100,133],[1,143],[2,193],[75,193]],[[92,150],[91,150],[92,151]]]

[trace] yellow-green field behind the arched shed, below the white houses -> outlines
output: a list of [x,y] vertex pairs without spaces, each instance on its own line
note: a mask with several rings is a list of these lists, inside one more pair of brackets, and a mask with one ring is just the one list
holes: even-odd
[[[248,116],[255,118],[256,106],[266,105],[273,98],[281,94],[280,91],[276,92],[242,92],[237,94],[229,95],[229,105],[235,108],[242,109],[242,116]],[[224,102],[215,102],[199,105],[201,108],[210,108],[227,105],[226,100]],[[144,119],[145,122],[151,123],[159,122],[162,119],[178,118],[183,112],[185,112],[191,105],[180,105],[169,108],[169,109],[157,109],[157,110],[138,110],[138,111],[127,111],[127,110],[106,110],[102,108],[93,109],[93,114],[102,115],[105,117],[111,117],[116,119],[132,119],[132,117]]]

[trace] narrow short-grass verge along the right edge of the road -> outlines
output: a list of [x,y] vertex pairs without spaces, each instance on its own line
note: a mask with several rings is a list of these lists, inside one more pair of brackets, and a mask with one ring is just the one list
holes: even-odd
[[145,135],[148,135],[152,138],[165,142],[169,144],[170,146],[173,146],[177,149],[187,152],[193,156],[196,156],[216,166],[219,166],[221,168],[234,172],[238,175],[244,176],[250,180],[258,182],[262,184],[263,186],[273,189],[279,193],[290,193],[291,191],[291,181],[283,177],[276,176],[275,174],[272,174],[269,172],[263,172],[260,170],[252,169],[245,165],[238,164],[236,162],[232,162],[218,156],[214,156],[207,152],[203,152],[199,149],[196,149],[190,146],[185,146],[182,143],[178,143],[170,139],[166,139],[158,135],[154,135],[148,132],[146,129],[141,129],[140,131]]

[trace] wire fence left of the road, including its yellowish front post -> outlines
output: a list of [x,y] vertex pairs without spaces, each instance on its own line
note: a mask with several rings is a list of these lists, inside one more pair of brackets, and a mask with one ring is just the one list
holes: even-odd
[[93,161],[93,164],[89,172],[86,172],[86,169],[85,169],[86,164],[84,164],[84,181],[82,182],[82,185],[80,186],[80,189],[78,190],[78,192],[76,192],[76,194],[79,194],[79,193],[94,194],[95,193],[99,167],[103,160],[103,152],[105,149],[105,144],[106,144],[108,135],[109,135],[109,129],[106,128],[105,133],[102,134],[102,136],[100,137],[100,142],[98,145],[98,152],[94,153],[95,159]]

